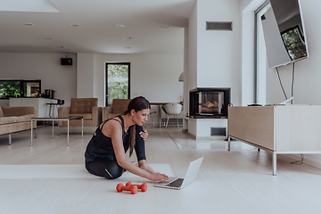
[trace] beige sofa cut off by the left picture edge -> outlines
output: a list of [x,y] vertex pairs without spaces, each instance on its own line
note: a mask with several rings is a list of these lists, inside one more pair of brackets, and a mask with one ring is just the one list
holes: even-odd
[[[31,118],[37,117],[37,108],[26,107],[0,107],[0,135],[9,134],[9,144],[12,144],[11,134],[31,128]],[[37,128],[34,121],[33,128]]]

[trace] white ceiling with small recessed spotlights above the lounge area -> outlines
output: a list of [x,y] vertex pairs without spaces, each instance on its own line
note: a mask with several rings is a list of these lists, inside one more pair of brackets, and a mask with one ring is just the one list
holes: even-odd
[[194,4],[195,0],[0,0],[0,52],[183,53],[184,27]]

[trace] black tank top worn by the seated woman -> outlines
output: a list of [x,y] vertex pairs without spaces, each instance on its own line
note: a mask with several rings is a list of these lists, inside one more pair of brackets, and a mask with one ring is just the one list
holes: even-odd
[[[124,119],[121,117],[121,115],[117,117],[120,119],[119,123],[121,124],[121,128],[122,128],[122,140],[123,140],[125,152],[127,152],[129,147],[128,133],[125,132]],[[106,121],[103,122],[102,128],[108,120],[110,119],[107,119]],[[114,120],[119,121],[117,119],[114,119]],[[102,159],[102,158],[116,160],[115,152],[113,150],[112,143],[111,143],[111,137],[103,135],[102,128],[101,126],[99,126],[95,130],[95,133],[92,136],[89,144],[87,144],[86,146],[86,152],[85,152],[86,163],[90,161],[95,161],[97,159]]]

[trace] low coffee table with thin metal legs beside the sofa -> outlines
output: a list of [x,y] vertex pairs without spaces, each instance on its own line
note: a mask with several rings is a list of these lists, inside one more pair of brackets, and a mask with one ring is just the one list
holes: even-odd
[[[81,138],[84,137],[84,118],[81,116],[77,117],[66,117],[66,118],[31,118],[31,146],[32,146],[32,132],[33,132],[33,121],[67,121],[67,146],[69,146],[69,134],[70,134],[70,120],[71,119],[81,119]],[[54,127],[54,123],[53,123]],[[58,136],[59,125],[58,125]],[[35,138],[37,138],[37,128],[35,129]]]

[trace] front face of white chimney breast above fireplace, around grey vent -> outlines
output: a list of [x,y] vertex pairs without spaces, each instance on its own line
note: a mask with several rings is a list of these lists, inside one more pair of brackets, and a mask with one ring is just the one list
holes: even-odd
[[[238,0],[198,1],[197,86],[231,87],[232,103],[239,104]],[[206,21],[233,21],[233,30],[206,30]]]

